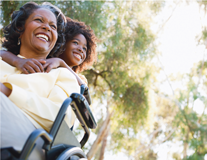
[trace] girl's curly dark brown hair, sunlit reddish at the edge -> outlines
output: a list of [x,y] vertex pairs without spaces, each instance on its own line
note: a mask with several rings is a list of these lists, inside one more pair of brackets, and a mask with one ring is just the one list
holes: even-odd
[[67,24],[65,29],[65,39],[66,39],[65,45],[67,44],[68,41],[73,40],[73,38],[78,34],[84,35],[87,41],[86,59],[80,65],[74,66],[72,68],[75,72],[82,72],[86,70],[89,66],[91,66],[93,62],[96,60],[97,38],[93,30],[89,26],[87,26],[84,22],[72,20],[69,17],[66,17],[66,19],[67,19]]

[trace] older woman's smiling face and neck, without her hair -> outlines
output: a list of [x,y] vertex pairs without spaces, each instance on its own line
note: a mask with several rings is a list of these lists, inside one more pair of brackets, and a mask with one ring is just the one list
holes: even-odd
[[28,55],[30,53],[46,58],[55,46],[57,36],[55,15],[45,8],[36,9],[26,20],[25,31],[20,36],[20,54],[26,58],[32,56]]

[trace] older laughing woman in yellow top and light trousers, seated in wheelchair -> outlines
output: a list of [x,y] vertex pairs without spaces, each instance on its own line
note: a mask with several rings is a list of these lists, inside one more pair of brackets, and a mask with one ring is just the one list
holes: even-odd
[[[25,59],[58,56],[64,45],[64,22],[64,15],[56,7],[26,3],[5,28],[3,46]],[[2,60],[0,65],[1,147],[21,150],[33,130],[50,130],[62,102],[80,87],[66,68],[27,75]],[[74,120],[69,109],[67,125],[71,127]]]

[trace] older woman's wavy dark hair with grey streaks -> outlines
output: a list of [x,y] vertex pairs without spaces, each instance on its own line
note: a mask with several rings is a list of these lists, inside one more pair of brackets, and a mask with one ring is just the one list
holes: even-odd
[[27,18],[37,9],[46,8],[54,13],[57,18],[57,33],[58,39],[57,42],[48,55],[48,57],[57,57],[63,51],[63,46],[65,45],[65,23],[66,18],[62,14],[61,10],[51,3],[45,2],[42,5],[38,5],[34,2],[28,2],[24,4],[19,11],[14,11],[12,14],[12,22],[6,26],[3,30],[4,32],[4,41],[2,46],[7,48],[8,51],[12,52],[15,55],[18,55],[20,52],[20,45],[17,45],[18,38],[24,32],[25,22]]

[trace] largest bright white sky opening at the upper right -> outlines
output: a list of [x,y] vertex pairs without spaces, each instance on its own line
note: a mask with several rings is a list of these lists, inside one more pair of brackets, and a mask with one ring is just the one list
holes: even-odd
[[[174,7],[174,6],[173,6]],[[165,9],[162,14],[169,15],[172,10]],[[203,18],[197,2],[180,3],[158,37],[162,56],[160,60],[167,73],[189,72],[193,63],[203,58],[204,46],[197,46],[196,37],[207,22]],[[160,20],[165,16],[158,16]]]

